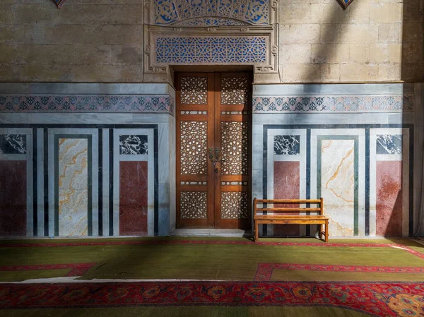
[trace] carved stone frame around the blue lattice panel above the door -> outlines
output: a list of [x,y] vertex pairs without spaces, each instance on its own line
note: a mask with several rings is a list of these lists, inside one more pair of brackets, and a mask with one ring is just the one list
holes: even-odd
[[[155,0],[153,0],[155,1]],[[254,66],[254,73],[257,74],[263,74],[266,76],[266,74],[276,74],[278,76],[278,0],[270,0],[269,1],[269,11],[268,11],[268,25],[264,24],[250,24],[250,25],[220,25],[219,28],[216,28],[215,26],[211,25],[195,25],[193,28],[190,27],[189,23],[186,23],[182,27],[178,27],[177,23],[174,23],[174,28],[163,28],[160,26],[154,26],[155,23],[155,6],[150,5],[150,0],[145,0],[145,7],[148,8],[148,12],[146,12],[146,26],[144,28],[144,73],[151,74],[151,76],[146,76],[145,78],[155,78],[155,76],[163,76],[169,77],[170,73],[172,73],[170,69],[170,65],[252,65]],[[198,16],[199,18],[202,18],[202,16]],[[205,19],[207,17],[204,17]],[[215,16],[214,18],[220,19],[223,17]],[[225,17],[225,18],[232,18],[232,17]],[[237,19],[237,17],[234,17]],[[152,20],[153,19],[153,20]],[[196,23],[198,23],[200,20],[196,20]],[[190,22],[191,23],[191,22]],[[172,23],[171,23],[172,24]],[[200,28],[199,28],[200,27]],[[184,49],[187,49],[187,58],[184,56],[184,58],[180,58],[182,55],[176,55],[172,56],[170,54],[170,59],[167,61],[167,45],[177,45],[178,47],[178,40],[177,42],[172,42],[172,40],[168,41],[167,39],[172,37],[178,37],[182,39],[182,44],[185,47]],[[252,58],[245,58],[241,55],[240,59],[231,59],[226,61],[227,56],[223,54],[223,56],[220,59],[216,59],[216,56],[212,54],[211,59],[208,60],[208,54],[205,54],[205,56],[201,56],[201,58],[196,58],[197,55],[194,55],[192,57],[189,57],[189,54],[193,54],[192,49],[190,49],[190,44],[187,44],[187,41],[184,40],[184,38],[190,39],[196,39],[199,38],[199,41],[204,37],[216,37],[218,38],[228,38],[228,37],[243,37],[246,39],[252,38],[252,39],[265,39],[264,44],[262,47],[254,47],[257,49],[257,52],[264,52],[265,57],[261,57],[260,59],[257,59],[256,57]],[[158,43],[158,39],[160,39],[162,42],[160,42],[160,46],[162,47],[162,52],[160,52],[160,58],[157,57],[158,48],[156,47],[156,44]],[[191,43],[188,41],[188,43]],[[168,44],[171,43],[171,44]],[[199,42],[197,42],[199,43]],[[226,43],[223,41],[223,43]],[[219,43],[218,43],[219,45]],[[228,46],[228,44],[225,44]],[[235,44],[237,45],[237,44]],[[257,44],[254,44],[257,45]],[[158,46],[159,47],[159,46]],[[216,44],[211,44],[211,47],[216,47]],[[193,47],[193,49],[198,49],[199,44],[196,44],[196,47]],[[258,50],[259,49],[259,50]],[[213,49],[212,49],[213,51]],[[184,53],[184,51],[182,51]],[[213,51],[214,52],[214,51]],[[212,53],[213,53],[212,52]],[[237,52],[240,52],[240,49],[237,49]],[[248,52],[248,51],[246,51]],[[250,52],[254,52],[254,50],[251,50]],[[249,56],[247,56],[249,57]],[[240,61],[239,61],[240,60]],[[237,62],[235,62],[237,61]],[[164,78],[165,78],[164,77]],[[260,76],[263,78],[263,76]],[[275,76],[271,76],[275,78]],[[270,78],[271,78],[270,77]],[[256,76],[255,76],[256,78]],[[162,79],[159,79],[162,80]],[[255,79],[256,81],[256,79]]]

